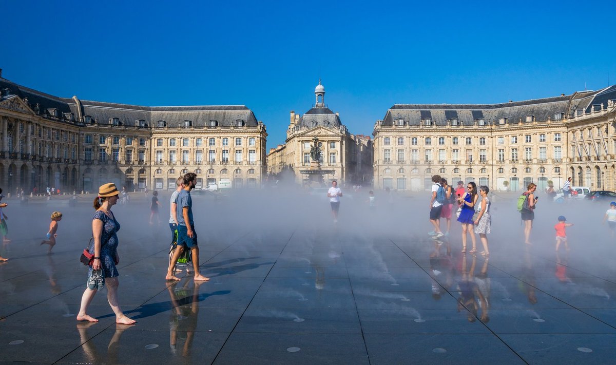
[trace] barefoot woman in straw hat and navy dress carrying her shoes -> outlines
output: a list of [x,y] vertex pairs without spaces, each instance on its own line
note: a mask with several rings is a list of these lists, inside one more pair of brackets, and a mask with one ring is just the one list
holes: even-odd
[[120,192],[115,184],[107,183],[99,187],[99,196],[94,199],[94,209],[96,210],[92,218],[94,245],[89,247],[89,252],[94,255],[94,261],[89,267],[90,279],[88,279],[86,291],[81,297],[81,308],[79,308],[79,314],[77,314],[78,321],[99,321],[86,312],[97,290],[102,289],[101,282],[92,281],[92,277],[95,277],[92,271],[102,269],[105,284],[107,284],[107,300],[116,315],[116,323],[134,324],[136,322],[124,316],[118,303],[118,276],[120,274],[118,274],[116,265],[120,262],[120,256],[117,250],[118,236],[116,236],[116,232],[120,230],[120,223],[111,213],[111,207],[118,202],[118,194]]

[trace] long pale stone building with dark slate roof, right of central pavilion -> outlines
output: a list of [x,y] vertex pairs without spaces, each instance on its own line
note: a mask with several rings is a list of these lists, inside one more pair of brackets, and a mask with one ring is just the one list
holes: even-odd
[[373,132],[375,187],[429,189],[440,174],[518,191],[565,176],[614,189],[616,86],[505,104],[396,104]]

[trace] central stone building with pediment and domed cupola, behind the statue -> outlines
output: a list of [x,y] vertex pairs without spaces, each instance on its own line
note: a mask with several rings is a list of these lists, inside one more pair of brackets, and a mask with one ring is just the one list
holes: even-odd
[[347,131],[338,113],[332,112],[325,104],[325,88],[320,81],[315,97],[316,103],[304,115],[291,112],[286,143],[269,151],[269,174],[278,176],[288,170],[294,174],[297,183],[302,183],[304,177],[299,170],[309,168],[312,138],[317,137],[321,147],[321,166],[323,170],[334,171],[325,175],[326,181],[339,179],[347,184],[370,184],[370,137],[354,136]]

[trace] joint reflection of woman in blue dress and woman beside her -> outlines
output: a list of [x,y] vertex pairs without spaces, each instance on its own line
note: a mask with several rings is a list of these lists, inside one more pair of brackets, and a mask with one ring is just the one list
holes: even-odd
[[477,257],[471,256],[471,268],[466,269],[466,255],[462,256],[462,277],[458,282],[458,312],[466,308],[468,310],[468,321],[474,322],[479,316],[479,308],[482,309],[481,320],[488,321],[488,303],[479,286],[474,281],[475,265]]

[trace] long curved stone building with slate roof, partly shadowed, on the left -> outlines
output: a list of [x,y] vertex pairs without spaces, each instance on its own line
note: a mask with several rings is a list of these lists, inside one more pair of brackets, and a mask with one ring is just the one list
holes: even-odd
[[265,173],[265,125],[243,105],[140,107],[55,97],[0,73],[0,184],[94,191],[198,184],[255,187]]

